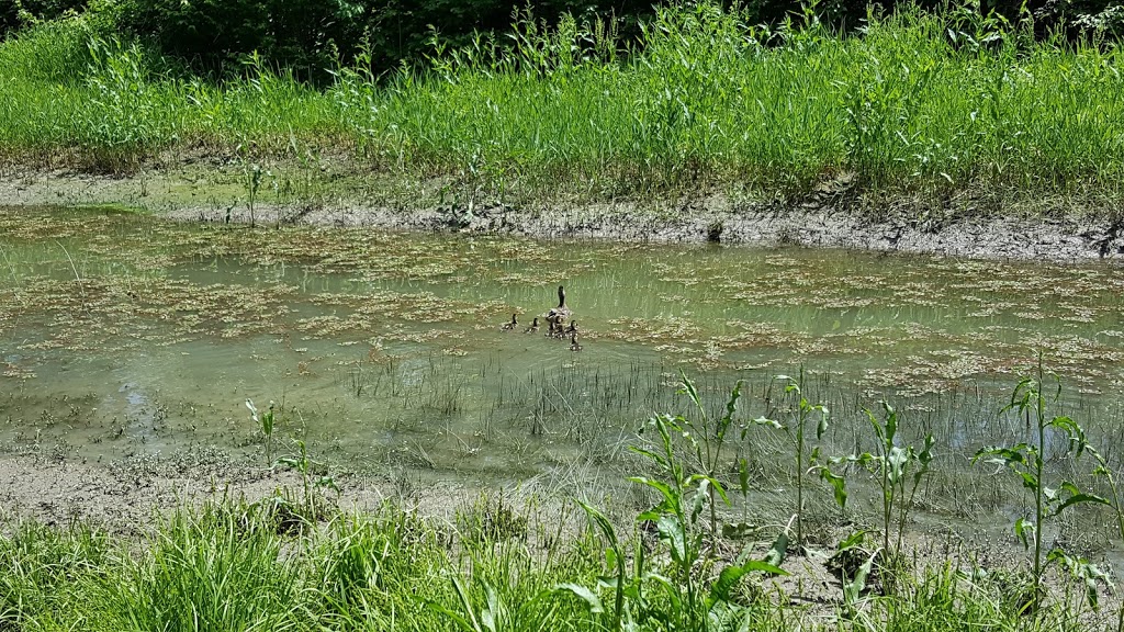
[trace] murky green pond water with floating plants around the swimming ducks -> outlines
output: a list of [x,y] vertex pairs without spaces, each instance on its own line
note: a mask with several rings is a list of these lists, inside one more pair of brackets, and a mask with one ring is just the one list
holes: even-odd
[[[525,333],[559,285],[581,351]],[[680,370],[715,406],[746,379],[756,416],[770,377],[803,364],[839,409],[888,397],[970,451],[1008,427],[995,410],[1037,350],[1108,432],[1122,290],[1095,265],[0,207],[0,446],[259,459],[253,399],[277,406],[278,452],[302,439],[356,468],[524,476],[610,462],[638,421],[681,407]]]

